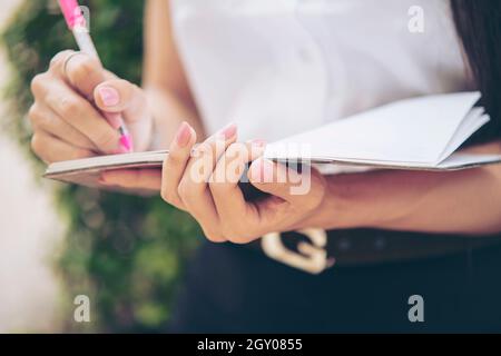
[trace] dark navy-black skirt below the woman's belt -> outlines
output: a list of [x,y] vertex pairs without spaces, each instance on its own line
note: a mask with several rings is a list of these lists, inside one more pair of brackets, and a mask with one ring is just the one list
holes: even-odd
[[[501,332],[500,274],[501,245],[311,275],[248,247],[204,243],[169,330]],[[412,296],[422,297],[418,320]]]

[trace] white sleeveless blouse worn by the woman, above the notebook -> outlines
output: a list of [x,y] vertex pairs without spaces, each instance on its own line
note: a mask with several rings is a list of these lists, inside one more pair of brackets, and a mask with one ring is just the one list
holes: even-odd
[[[170,1],[209,134],[235,121],[242,139],[274,141],[389,101],[471,89],[448,0]],[[415,7],[422,32],[410,30]]]

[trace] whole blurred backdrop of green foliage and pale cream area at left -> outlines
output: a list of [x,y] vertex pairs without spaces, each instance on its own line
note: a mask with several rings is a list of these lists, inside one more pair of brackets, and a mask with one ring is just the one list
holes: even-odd
[[[144,1],[81,4],[105,66],[140,83]],[[56,0],[1,0],[0,27],[0,333],[165,330],[199,230],[159,198],[40,178],[30,81],[76,44]],[[78,295],[90,323],[73,319]]]

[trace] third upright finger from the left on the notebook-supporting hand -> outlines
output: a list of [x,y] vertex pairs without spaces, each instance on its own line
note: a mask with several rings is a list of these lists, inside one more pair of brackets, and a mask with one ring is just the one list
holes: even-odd
[[232,145],[217,162],[210,179],[210,192],[224,235],[233,243],[245,244],[263,234],[258,210],[245,200],[238,182],[247,164],[259,158],[264,150],[263,141]]

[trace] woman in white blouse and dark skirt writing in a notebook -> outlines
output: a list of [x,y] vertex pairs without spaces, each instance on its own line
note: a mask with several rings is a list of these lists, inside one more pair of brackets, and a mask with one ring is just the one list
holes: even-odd
[[[414,31],[411,20],[423,22]],[[143,88],[72,51],[33,79],[32,147],[48,162],[122,152],[106,112],[125,119],[136,150],[170,149],[163,177],[116,171],[101,182],[161,191],[210,240],[173,330],[499,330],[500,166],[314,171],[295,196],[303,174],[261,155],[264,140],[469,89],[482,91],[492,122],[468,149],[500,152],[500,3],[150,0],[145,23]],[[246,199],[224,159],[249,161],[267,196]],[[198,165],[210,167],[203,179]],[[226,179],[208,182],[216,174]],[[285,182],[263,179],[281,174]]]

